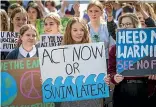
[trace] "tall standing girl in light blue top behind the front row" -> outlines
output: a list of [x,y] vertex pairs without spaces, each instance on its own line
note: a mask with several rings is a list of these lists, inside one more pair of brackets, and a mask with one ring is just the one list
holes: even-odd
[[87,7],[87,14],[90,18],[88,29],[92,42],[104,42],[106,59],[108,59],[108,50],[115,44],[115,41],[108,32],[107,24],[101,18],[103,14],[102,4],[99,1],[91,1]]

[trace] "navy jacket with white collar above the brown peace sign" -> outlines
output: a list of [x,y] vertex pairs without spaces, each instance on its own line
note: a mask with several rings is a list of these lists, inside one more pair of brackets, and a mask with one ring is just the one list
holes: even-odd
[[22,58],[28,58],[28,57],[38,57],[38,50],[33,45],[33,49],[30,52],[27,52],[22,45],[19,48],[14,49],[11,51],[7,57],[6,60],[10,59],[22,59]]

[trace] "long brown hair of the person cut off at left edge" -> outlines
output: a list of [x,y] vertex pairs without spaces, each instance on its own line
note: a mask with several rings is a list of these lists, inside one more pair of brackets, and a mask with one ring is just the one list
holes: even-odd
[[5,10],[0,9],[1,14],[1,31],[9,31],[9,17]]

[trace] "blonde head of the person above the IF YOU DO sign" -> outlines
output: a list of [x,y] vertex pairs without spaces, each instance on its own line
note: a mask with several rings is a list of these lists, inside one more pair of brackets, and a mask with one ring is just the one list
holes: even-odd
[[60,16],[57,13],[49,13],[44,18],[44,34],[60,34]]

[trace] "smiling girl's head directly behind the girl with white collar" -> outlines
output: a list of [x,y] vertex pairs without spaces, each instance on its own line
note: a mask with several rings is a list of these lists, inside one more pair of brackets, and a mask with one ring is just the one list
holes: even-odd
[[22,25],[28,23],[28,15],[23,7],[18,7],[13,10],[10,16],[10,31],[19,32]]

